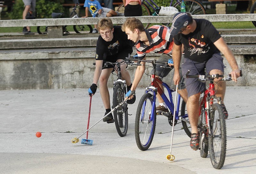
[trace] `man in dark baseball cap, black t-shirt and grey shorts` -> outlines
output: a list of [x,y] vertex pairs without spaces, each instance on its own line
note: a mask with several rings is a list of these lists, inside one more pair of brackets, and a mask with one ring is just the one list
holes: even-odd
[[[174,36],[174,46],[172,49],[172,58],[174,64],[174,84],[180,80],[179,67],[181,58],[181,45],[184,45],[184,63],[181,66],[182,76],[188,70],[190,75],[206,74],[224,74],[223,58],[220,52],[224,54],[229,65],[232,68],[231,76],[233,81],[237,81],[240,76],[240,70],[236,59],[228,48],[227,44],[220,36],[220,33],[206,19],[193,19],[189,13],[179,12],[172,19],[171,35]],[[205,70],[205,71],[204,71]],[[215,78],[217,82],[220,79]],[[191,125],[190,147],[193,150],[199,148],[199,136],[197,130],[199,116],[199,98],[205,90],[205,83],[196,78],[187,78],[185,84],[188,91],[187,111]],[[222,110],[225,118],[228,118],[228,112],[223,103],[226,83],[220,81],[215,83],[217,91],[216,96],[222,99]]]

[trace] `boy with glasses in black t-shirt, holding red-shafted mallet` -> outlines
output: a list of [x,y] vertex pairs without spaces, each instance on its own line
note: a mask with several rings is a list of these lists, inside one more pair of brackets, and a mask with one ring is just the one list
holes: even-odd
[[[89,88],[89,95],[93,96],[97,90],[97,83],[100,80],[100,95],[106,109],[105,115],[110,112],[110,97],[108,92],[108,78],[114,67],[103,67],[104,62],[121,62],[132,54],[132,46],[135,44],[127,39],[127,35],[121,30],[121,26],[113,26],[110,18],[102,18],[98,22],[100,36],[96,46],[96,68],[93,76],[92,86]],[[130,90],[132,83],[127,65],[121,65],[121,74],[127,84],[127,91]],[[128,104],[133,104],[135,98],[128,100]],[[103,119],[107,123],[113,123],[113,116],[109,114]]]

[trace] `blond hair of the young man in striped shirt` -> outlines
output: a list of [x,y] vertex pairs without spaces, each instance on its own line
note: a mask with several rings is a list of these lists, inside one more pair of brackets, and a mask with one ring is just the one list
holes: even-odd
[[125,32],[125,28],[129,28],[131,31],[138,29],[140,32],[145,31],[144,25],[137,18],[127,18],[122,25],[122,31]]

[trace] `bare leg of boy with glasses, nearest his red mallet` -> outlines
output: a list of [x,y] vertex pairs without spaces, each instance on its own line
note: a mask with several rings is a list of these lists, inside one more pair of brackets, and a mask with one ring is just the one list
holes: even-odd
[[104,104],[105,109],[110,109],[110,97],[108,91],[108,78],[112,72],[112,68],[102,69],[100,74],[100,96]]

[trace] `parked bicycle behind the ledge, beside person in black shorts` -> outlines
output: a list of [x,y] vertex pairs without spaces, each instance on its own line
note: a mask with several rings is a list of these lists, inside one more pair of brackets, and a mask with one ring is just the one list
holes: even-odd
[[[176,2],[176,3],[175,3]],[[171,0],[169,6],[173,6],[180,11],[180,4],[182,0]],[[192,15],[198,14],[206,14],[205,8],[203,4],[201,4],[197,0],[184,0],[186,4],[186,12],[190,12]],[[159,6],[153,0],[142,0],[141,1],[142,7],[142,16],[151,16]],[[124,10],[124,4],[120,5],[117,11]],[[150,23],[145,25],[145,28],[148,28]],[[166,25],[166,24],[164,24]]]

